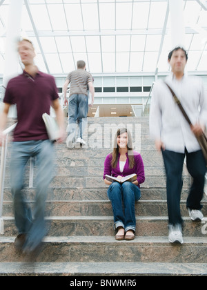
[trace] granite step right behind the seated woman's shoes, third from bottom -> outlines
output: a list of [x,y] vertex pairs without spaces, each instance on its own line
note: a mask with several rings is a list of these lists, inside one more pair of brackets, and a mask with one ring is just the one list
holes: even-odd
[[[167,216],[137,216],[137,236],[168,236]],[[206,219],[203,222],[193,222],[188,216],[183,217],[183,233],[186,237],[202,237],[206,229]],[[112,216],[49,216],[46,217],[49,236],[114,236]],[[17,229],[14,218],[3,217],[3,235],[16,236]]]

